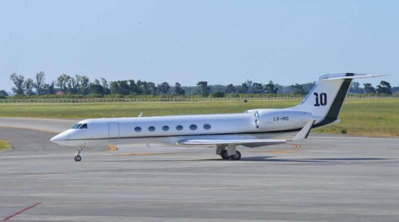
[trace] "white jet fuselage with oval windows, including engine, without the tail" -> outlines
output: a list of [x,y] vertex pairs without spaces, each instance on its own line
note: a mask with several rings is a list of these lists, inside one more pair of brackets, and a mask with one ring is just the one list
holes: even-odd
[[[248,110],[239,114],[87,119],[51,141],[66,146],[177,144],[188,139],[272,139],[292,135],[312,118],[290,109]],[[139,130],[139,128],[141,130]]]

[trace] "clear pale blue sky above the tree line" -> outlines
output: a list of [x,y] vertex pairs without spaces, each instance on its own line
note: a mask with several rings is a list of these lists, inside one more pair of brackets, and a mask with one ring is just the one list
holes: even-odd
[[46,80],[174,85],[250,79],[282,85],[323,73],[388,74],[399,85],[397,0],[2,0],[0,90],[11,73]]

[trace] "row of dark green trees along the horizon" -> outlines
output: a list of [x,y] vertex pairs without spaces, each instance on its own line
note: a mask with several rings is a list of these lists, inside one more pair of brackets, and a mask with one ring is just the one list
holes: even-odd
[[[45,73],[36,73],[35,78],[25,78],[22,75],[12,73],[10,80],[13,82],[12,92],[16,96],[31,95],[201,95],[222,97],[225,94],[307,94],[316,82],[305,84],[293,84],[283,86],[269,81],[262,84],[247,80],[241,85],[228,84],[208,85],[207,81],[199,81],[196,86],[182,86],[179,82],[170,85],[168,82],[155,84],[142,80],[118,80],[108,82],[105,78],[90,81],[87,76],[70,76],[61,74],[55,81],[46,82]],[[387,81],[381,81],[373,87],[371,83],[363,84],[352,82],[350,93],[392,94],[399,93],[399,87],[391,87]],[[8,96],[4,90],[0,90],[0,96]]]

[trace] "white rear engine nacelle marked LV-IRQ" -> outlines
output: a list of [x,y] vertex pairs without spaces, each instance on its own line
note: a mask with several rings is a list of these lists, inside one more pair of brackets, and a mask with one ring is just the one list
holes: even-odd
[[311,118],[311,113],[296,110],[258,109],[253,112],[253,124],[261,130],[301,128]]

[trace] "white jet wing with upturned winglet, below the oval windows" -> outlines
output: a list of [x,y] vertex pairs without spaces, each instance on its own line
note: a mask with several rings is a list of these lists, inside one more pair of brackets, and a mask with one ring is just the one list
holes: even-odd
[[179,141],[177,145],[243,145],[246,147],[258,147],[258,146],[268,146],[275,144],[287,143],[289,141],[295,141],[300,139],[306,139],[312,129],[315,119],[309,120],[308,123],[302,128],[301,131],[293,138],[287,140],[279,139],[240,139],[240,140],[223,140],[223,139],[192,139]]

